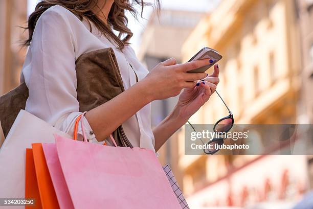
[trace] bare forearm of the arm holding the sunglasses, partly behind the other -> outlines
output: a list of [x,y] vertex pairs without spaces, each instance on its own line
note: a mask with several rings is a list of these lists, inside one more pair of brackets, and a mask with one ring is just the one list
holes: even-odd
[[168,138],[182,127],[187,120],[187,118],[181,117],[179,108],[174,108],[173,111],[153,129],[155,151],[158,151]]

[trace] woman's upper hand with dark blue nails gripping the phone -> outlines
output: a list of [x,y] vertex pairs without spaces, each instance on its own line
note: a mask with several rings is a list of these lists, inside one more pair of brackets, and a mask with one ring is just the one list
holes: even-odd
[[206,73],[187,73],[192,69],[208,65],[209,59],[197,60],[183,64],[176,64],[174,58],[170,58],[155,66],[142,80],[151,100],[161,100],[180,94],[184,88],[193,88],[197,80],[204,79]]

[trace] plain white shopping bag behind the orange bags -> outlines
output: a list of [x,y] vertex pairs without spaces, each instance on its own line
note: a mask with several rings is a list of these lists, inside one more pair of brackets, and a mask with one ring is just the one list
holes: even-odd
[[25,150],[32,143],[54,143],[55,133],[71,138],[31,113],[19,111],[0,149],[0,198],[25,197]]

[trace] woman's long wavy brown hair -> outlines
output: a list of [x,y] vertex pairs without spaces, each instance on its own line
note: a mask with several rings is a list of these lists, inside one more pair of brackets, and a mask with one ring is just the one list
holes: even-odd
[[[97,29],[107,38],[113,40],[120,50],[124,49],[126,44],[129,44],[129,39],[132,36],[132,32],[127,27],[128,19],[125,15],[125,11],[129,11],[136,19],[137,19],[137,11],[134,8],[135,5],[141,5],[141,17],[143,14],[143,8],[147,5],[152,5],[150,3],[146,3],[143,0],[114,0],[114,3],[111,7],[111,10],[107,17],[107,24],[105,24],[95,13],[94,9],[99,8],[98,0],[42,0],[39,2],[35,8],[35,11],[28,18],[28,26],[25,28],[29,32],[29,37],[23,45],[30,45],[33,32],[39,19],[40,15],[54,5],[60,5],[68,10],[70,10],[73,14],[75,14],[81,21],[83,18],[86,18],[90,22],[93,22]],[[159,0],[155,0],[155,5],[158,13],[160,10],[160,2]],[[112,30],[119,32],[117,36]],[[124,36],[124,37],[123,37]]]

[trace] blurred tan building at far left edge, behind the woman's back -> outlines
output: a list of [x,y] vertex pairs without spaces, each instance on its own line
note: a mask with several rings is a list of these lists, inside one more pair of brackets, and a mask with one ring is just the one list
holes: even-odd
[[[0,1],[0,95],[19,84],[19,75],[26,54],[20,40],[27,37],[23,33],[27,21],[27,1]],[[0,128],[0,142],[3,140]],[[1,143],[0,143],[1,144]]]

